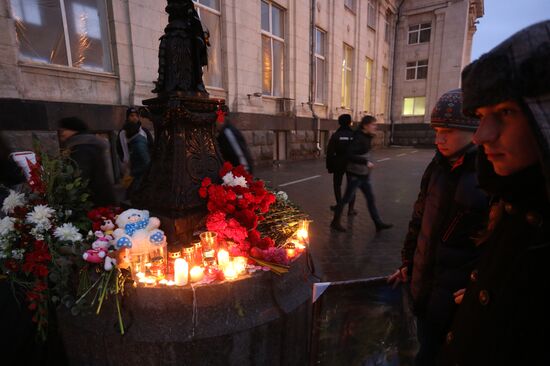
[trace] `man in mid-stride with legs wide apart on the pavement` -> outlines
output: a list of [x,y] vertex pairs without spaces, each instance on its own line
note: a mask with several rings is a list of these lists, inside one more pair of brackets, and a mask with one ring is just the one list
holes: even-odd
[[367,208],[370,216],[376,226],[376,231],[389,229],[392,224],[386,224],[380,218],[376,203],[374,202],[374,194],[370,181],[370,171],[374,168],[374,164],[369,161],[369,152],[371,150],[372,138],[376,132],[376,118],[373,116],[364,116],[361,119],[359,128],[353,134],[353,141],[347,151],[348,164],[346,172],[348,173],[348,183],[346,193],[342,200],[336,205],[334,210],[334,218],[330,223],[330,227],[337,231],[346,231],[341,224],[342,212],[345,205],[351,202],[355,196],[357,189],[361,189],[367,200]]

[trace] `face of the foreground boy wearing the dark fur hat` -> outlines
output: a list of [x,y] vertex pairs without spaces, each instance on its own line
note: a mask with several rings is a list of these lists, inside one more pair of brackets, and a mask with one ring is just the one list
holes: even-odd
[[476,114],[480,121],[474,143],[483,146],[498,175],[511,175],[537,163],[537,142],[517,102],[481,107]]

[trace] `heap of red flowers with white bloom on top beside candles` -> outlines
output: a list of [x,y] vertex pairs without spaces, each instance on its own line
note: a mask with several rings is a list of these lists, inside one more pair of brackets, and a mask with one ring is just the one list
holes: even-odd
[[265,219],[264,214],[275,202],[275,195],[241,165],[233,167],[225,162],[219,176],[221,184],[207,177],[199,189],[199,195],[208,199],[206,228],[218,233],[222,240],[235,243],[229,248],[233,256],[288,264],[285,250],[275,247],[270,237],[262,237],[257,230],[258,223]]

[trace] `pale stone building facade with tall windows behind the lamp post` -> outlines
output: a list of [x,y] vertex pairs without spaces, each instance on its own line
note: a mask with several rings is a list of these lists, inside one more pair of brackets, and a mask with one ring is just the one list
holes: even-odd
[[[427,111],[439,94],[459,86],[472,20],[483,5],[195,3],[211,45],[207,90],[211,98],[225,99],[259,163],[322,154],[343,113],[354,120],[375,115],[379,143],[389,142],[394,122],[425,122],[429,113],[420,116],[418,100],[411,107],[406,98],[424,96]],[[17,149],[30,148],[35,136],[55,150],[56,121],[79,115],[113,139],[125,106],[154,96],[165,6],[161,0],[0,0],[2,135]]]

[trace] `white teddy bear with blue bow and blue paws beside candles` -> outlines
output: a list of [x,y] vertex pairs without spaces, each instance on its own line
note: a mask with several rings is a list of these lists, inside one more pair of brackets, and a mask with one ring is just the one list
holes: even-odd
[[145,253],[151,245],[162,245],[166,241],[159,230],[160,220],[149,217],[149,211],[128,209],[118,215],[113,233],[117,248],[130,248],[132,253]]

